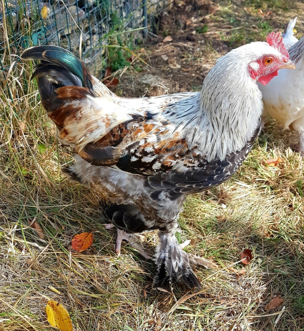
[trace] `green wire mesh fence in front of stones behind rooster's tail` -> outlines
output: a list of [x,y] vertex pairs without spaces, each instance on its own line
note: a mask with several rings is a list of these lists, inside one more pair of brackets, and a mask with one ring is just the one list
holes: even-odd
[[[29,46],[58,45],[81,56],[97,72],[105,63],[109,37],[123,35],[136,43],[147,16],[164,10],[171,0],[0,0],[0,65],[3,54]],[[144,16],[145,15],[145,16]],[[9,64],[10,65],[10,64]]]

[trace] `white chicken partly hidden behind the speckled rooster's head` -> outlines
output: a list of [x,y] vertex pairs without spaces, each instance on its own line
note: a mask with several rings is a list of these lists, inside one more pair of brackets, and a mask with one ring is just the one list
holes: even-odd
[[304,156],[304,37],[298,41],[293,36],[295,22],[296,18],[286,25],[283,42],[285,44],[286,40],[288,45],[292,45],[288,52],[296,65],[296,70],[282,70],[268,85],[258,85],[264,103],[262,127],[265,119],[272,117],[283,125],[284,129],[298,132],[298,151]]

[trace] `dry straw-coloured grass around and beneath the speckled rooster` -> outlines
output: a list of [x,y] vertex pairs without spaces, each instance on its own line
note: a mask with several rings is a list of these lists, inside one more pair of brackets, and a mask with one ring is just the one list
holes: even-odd
[[[11,70],[0,72],[0,330],[50,330],[49,299],[67,308],[76,330],[304,329],[304,161],[288,148],[294,134],[270,121],[233,178],[188,198],[178,239],[191,239],[189,252],[220,267],[196,268],[201,291],[156,292],[153,262],[127,245],[117,258],[115,231],[99,222],[98,196],[60,173],[71,153],[54,140],[34,83],[25,84],[31,68],[4,59]],[[263,165],[274,157],[283,163]],[[71,252],[83,231],[94,232],[93,246]],[[156,243],[153,233],[147,240]],[[246,267],[237,263],[244,248],[253,252]],[[238,276],[239,269],[246,272]],[[264,308],[279,294],[285,310],[276,324],[282,307]]]

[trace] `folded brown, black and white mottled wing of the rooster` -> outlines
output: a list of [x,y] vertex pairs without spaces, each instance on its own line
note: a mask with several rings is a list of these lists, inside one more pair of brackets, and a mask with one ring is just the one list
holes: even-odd
[[[76,151],[92,165],[116,165],[121,170],[141,175],[171,169],[177,162],[193,166],[187,159],[195,154],[186,139],[179,138],[178,134],[164,139],[164,132],[167,130],[160,130],[156,123],[135,119],[117,125],[96,143]],[[151,135],[156,136],[154,142],[150,142]]]

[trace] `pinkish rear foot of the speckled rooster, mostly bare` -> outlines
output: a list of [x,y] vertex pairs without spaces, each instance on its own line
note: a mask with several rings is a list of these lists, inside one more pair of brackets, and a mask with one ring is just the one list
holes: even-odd
[[[111,229],[112,227],[115,227],[114,224],[104,224],[104,227],[107,229]],[[115,253],[120,256],[120,251],[122,247],[122,241],[126,240],[130,246],[136,249],[136,251],[142,255],[145,259],[149,260],[152,259],[151,255],[146,253],[146,249],[144,248],[144,245],[142,244],[144,236],[137,234],[137,233],[128,233],[124,230],[117,229],[117,239],[116,239],[116,249]]]

